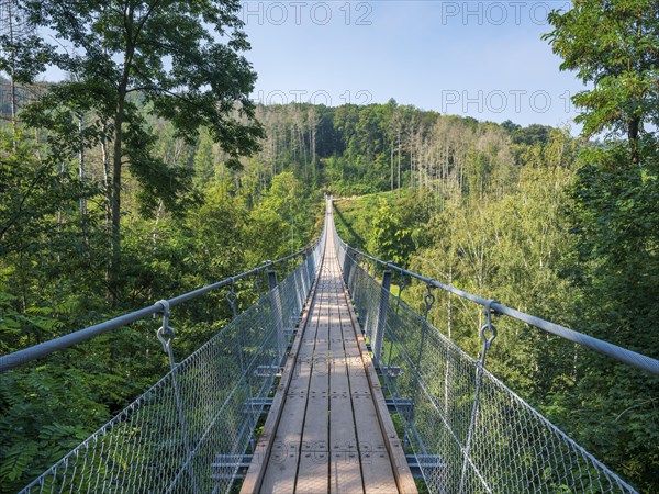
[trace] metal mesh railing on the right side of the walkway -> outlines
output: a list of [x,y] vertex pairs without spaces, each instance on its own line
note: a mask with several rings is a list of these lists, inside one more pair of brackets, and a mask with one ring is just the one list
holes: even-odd
[[[433,493],[632,493],[634,487],[383,289],[336,231],[344,280]],[[386,265],[386,263],[383,263]],[[491,337],[483,326],[485,353]],[[491,340],[490,340],[491,341]]]

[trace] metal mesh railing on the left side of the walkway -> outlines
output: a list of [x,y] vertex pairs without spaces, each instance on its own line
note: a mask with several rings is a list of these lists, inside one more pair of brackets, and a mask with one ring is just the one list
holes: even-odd
[[22,492],[228,492],[321,266],[324,235],[273,290]]

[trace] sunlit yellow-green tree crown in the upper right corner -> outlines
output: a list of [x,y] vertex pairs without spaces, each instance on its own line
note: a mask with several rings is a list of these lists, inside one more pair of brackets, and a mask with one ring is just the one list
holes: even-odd
[[645,125],[659,122],[659,3],[656,0],[574,0],[567,12],[554,11],[555,30],[544,36],[593,88],[572,101],[583,110],[576,120],[587,136],[624,133],[632,162],[639,161]]

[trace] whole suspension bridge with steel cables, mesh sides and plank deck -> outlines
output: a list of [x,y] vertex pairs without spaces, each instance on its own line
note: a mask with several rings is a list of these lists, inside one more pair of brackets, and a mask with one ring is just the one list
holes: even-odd
[[[7,371],[157,315],[170,363],[21,492],[414,493],[415,479],[433,493],[636,492],[488,371],[492,316],[652,374],[659,361],[368,256],[332,211],[309,249],[1,357]],[[426,284],[425,314],[391,293],[392,271]],[[238,314],[235,283],[261,273],[268,292]],[[428,323],[434,289],[484,307],[480,359]],[[219,290],[234,318],[177,363],[172,308]]]

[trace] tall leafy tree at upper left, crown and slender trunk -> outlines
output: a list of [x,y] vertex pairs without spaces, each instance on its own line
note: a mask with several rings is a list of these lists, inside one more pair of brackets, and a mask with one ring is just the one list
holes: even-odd
[[[257,149],[261,128],[248,99],[256,75],[241,54],[249,49],[237,0],[29,0],[31,21],[49,29],[66,52],[49,61],[75,74],[53,93],[88,100],[111,141],[110,291],[119,292],[121,190],[125,165],[143,188],[172,205],[185,181],[154,157],[154,136],[135,101],[170,121],[192,142],[205,126],[231,156]],[[74,88],[75,87],[75,88]],[[68,90],[67,90],[68,89]],[[42,110],[47,111],[42,104]],[[80,110],[80,109],[78,109]],[[147,194],[148,195],[148,194]],[[168,200],[169,199],[169,204]]]

